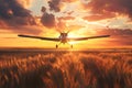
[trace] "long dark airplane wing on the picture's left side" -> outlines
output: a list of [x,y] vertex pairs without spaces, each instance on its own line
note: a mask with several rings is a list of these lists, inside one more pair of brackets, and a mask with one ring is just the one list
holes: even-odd
[[20,36],[20,37],[31,37],[31,38],[38,38],[38,40],[46,40],[46,41],[59,42],[59,38],[56,38],[56,37],[41,37],[41,36],[22,35],[22,34],[19,34],[18,36]]

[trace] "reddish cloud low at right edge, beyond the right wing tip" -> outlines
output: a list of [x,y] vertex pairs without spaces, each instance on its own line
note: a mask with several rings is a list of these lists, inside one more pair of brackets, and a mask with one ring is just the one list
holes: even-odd
[[109,34],[110,40],[107,42],[112,45],[132,45],[132,30],[131,29],[108,29],[98,30],[97,34]]

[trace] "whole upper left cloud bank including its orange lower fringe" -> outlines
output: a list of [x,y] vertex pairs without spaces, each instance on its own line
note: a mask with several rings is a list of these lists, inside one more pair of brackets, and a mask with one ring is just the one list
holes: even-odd
[[31,11],[24,4],[30,0],[0,0],[0,30],[10,30],[13,33],[40,34],[42,31],[35,22]]

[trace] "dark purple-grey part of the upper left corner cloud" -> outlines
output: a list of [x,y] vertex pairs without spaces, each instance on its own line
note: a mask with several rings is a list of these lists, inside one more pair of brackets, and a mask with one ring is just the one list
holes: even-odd
[[0,0],[0,20],[13,26],[35,24],[31,11],[24,9],[18,0]]

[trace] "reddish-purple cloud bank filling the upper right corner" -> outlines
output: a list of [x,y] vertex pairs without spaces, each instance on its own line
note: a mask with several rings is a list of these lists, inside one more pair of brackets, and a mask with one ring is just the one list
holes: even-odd
[[[117,15],[127,15],[132,19],[132,0],[91,0],[89,3],[84,6],[85,9],[99,15],[94,18],[95,20],[113,18]],[[89,18],[87,16],[85,19],[89,20]]]

